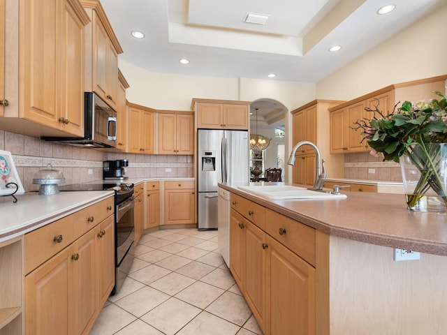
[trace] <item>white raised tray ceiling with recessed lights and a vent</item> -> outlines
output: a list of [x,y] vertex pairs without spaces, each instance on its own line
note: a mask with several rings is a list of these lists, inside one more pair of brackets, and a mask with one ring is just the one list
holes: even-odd
[[[124,61],[157,73],[317,82],[446,0],[101,0]],[[396,9],[377,15],[379,7]],[[245,23],[247,13],[268,17]],[[145,38],[131,37],[140,30]],[[342,45],[339,52],[328,52]],[[186,66],[179,59],[189,59]]]

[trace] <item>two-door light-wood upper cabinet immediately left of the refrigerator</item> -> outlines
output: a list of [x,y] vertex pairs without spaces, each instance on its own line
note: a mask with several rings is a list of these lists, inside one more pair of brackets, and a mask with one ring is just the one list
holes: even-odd
[[159,110],[159,154],[194,154],[194,114]]

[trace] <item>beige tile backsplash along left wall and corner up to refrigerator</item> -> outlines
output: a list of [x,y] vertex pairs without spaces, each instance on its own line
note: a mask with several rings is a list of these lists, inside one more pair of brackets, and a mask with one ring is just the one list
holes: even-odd
[[103,178],[103,161],[127,159],[129,178],[193,177],[193,156],[121,154],[84,149],[0,130],[0,150],[10,151],[26,192],[38,191],[34,173],[47,164],[64,173],[66,184]]

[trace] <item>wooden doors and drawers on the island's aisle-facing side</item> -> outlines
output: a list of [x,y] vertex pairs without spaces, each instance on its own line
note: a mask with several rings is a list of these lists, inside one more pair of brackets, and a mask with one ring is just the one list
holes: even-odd
[[[296,253],[303,248],[303,257],[314,260],[313,228],[291,225],[291,219],[237,195],[230,203],[230,271],[263,334],[316,334],[316,269]],[[254,219],[263,212],[264,222]],[[273,224],[271,236],[266,229]],[[301,239],[303,245],[291,243]]]

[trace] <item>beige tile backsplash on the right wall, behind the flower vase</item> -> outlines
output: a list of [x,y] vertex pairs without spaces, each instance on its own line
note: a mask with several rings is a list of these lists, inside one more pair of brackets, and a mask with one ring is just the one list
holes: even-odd
[[402,181],[400,165],[393,161],[383,162],[381,156],[369,152],[344,155],[344,177],[380,181]]

